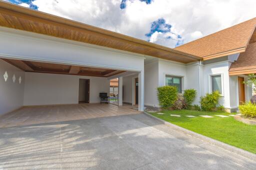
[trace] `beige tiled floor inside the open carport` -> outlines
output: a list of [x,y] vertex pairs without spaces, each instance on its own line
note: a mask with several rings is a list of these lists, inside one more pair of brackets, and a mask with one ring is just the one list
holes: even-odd
[[24,107],[0,116],[0,128],[140,113],[131,105],[77,104]]

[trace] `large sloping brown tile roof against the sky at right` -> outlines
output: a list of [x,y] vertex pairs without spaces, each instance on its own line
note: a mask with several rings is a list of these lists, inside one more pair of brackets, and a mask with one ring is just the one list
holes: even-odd
[[244,52],[255,25],[256,17],[174,49],[203,57],[204,60]]

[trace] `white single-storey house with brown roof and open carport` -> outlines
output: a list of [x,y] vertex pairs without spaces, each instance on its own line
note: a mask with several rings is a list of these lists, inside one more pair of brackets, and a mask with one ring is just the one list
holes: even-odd
[[[0,114],[22,106],[98,103],[118,78],[118,104],[158,108],[156,88],[221,91],[226,109],[248,100],[256,18],[168,48],[0,1]],[[83,81],[83,82],[80,82]],[[79,84],[84,92],[79,92]],[[84,95],[84,96],[80,96]]]

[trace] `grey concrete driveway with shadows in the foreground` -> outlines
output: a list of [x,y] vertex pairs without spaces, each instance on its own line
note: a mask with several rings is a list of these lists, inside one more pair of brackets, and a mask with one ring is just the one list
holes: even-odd
[[144,114],[0,128],[0,170],[255,170]]

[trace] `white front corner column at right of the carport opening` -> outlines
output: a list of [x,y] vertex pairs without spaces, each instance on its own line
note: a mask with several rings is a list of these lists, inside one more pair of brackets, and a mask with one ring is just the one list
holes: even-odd
[[138,73],[138,110],[144,110],[144,71]]

